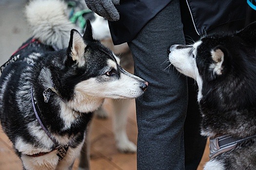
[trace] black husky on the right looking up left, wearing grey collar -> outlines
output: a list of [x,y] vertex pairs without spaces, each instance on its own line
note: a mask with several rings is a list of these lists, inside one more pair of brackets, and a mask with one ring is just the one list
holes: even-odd
[[169,60],[199,87],[201,134],[210,137],[205,170],[256,170],[256,22],[193,45],[173,45]]

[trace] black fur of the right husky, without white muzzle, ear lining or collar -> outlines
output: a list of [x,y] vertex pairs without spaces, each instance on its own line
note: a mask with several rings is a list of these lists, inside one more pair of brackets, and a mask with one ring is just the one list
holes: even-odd
[[[256,135],[256,22],[226,36],[210,35],[197,48],[197,68],[202,77],[203,134],[244,138]],[[210,65],[212,50],[224,54],[221,74]],[[214,158],[225,170],[256,169],[256,137],[243,141],[227,153]]]

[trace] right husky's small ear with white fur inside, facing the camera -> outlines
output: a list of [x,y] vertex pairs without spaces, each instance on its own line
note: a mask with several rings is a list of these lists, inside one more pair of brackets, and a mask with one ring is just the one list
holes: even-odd
[[221,45],[216,46],[211,51],[213,63],[210,65],[210,68],[213,71],[214,77],[223,74],[224,58],[227,57],[227,54],[227,49]]

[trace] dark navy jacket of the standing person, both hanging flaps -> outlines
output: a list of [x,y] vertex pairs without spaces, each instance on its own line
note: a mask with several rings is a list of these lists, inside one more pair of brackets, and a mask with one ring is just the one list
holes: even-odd
[[[170,2],[171,0],[120,0],[120,4],[116,6],[120,19],[109,22],[114,44],[133,40],[142,27]],[[199,35],[228,22],[245,22],[247,10],[250,8],[246,0],[186,0],[186,2]]]

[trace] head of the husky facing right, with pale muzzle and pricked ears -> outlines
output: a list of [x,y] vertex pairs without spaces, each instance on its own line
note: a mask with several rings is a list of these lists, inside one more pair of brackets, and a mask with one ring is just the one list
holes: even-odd
[[102,102],[104,98],[133,99],[147,88],[146,81],[121,68],[120,59],[93,38],[89,20],[83,36],[71,31],[65,53],[64,65],[53,61],[59,68],[51,69],[53,82],[64,100],[82,103]]

